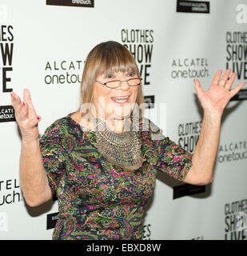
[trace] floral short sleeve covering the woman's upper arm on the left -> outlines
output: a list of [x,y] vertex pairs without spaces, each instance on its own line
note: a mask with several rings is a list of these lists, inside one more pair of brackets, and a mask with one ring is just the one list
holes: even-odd
[[58,122],[49,126],[39,140],[43,166],[53,194],[66,169],[66,150],[62,146],[62,127]]

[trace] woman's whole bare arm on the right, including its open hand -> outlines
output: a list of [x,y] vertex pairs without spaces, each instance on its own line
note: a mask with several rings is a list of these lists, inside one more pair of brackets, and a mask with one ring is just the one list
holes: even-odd
[[233,73],[229,77],[230,73],[230,69],[225,70],[221,77],[222,70],[217,70],[209,90],[203,90],[198,79],[194,79],[204,116],[201,134],[192,157],[193,165],[185,177],[185,182],[202,185],[213,181],[213,169],[220,140],[221,115],[230,98],[245,85],[245,82],[241,82],[232,89],[237,74]]

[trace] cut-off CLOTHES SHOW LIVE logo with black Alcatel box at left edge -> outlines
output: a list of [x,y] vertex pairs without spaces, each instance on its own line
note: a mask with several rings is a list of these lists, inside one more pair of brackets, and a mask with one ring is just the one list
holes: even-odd
[[[2,97],[6,93],[10,93],[11,88],[11,75],[13,72],[13,53],[14,53],[14,33],[13,26],[1,25],[0,26],[0,84]],[[2,77],[1,77],[2,76]],[[14,109],[12,106],[0,106],[0,122],[13,122]]]

